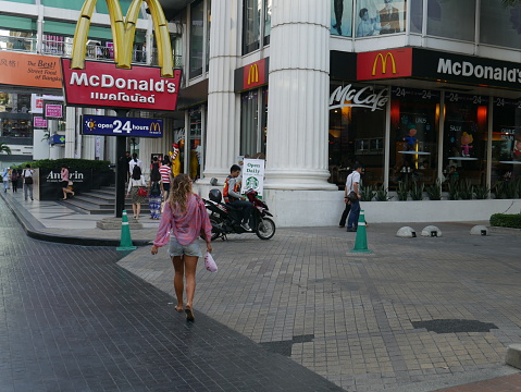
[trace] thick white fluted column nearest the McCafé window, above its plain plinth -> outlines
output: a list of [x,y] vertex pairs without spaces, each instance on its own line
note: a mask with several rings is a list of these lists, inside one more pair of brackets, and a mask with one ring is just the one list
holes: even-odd
[[270,38],[265,188],[327,183],[331,2],[277,0]]

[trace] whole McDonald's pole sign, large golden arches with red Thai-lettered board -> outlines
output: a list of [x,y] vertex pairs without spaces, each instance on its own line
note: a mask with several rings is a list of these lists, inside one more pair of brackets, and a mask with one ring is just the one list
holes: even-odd
[[[114,62],[85,61],[97,0],[86,0],[74,35],[72,59],[62,59],[63,88],[69,106],[175,110],[181,70],[173,69],[166,20],[158,0],[132,0],[123,17],[119,0],[106,0],[114,38]],[[159,68],[132,65],[134,36],[145,1],[154,25]],[[131,70],[132,69],[132,70]]]

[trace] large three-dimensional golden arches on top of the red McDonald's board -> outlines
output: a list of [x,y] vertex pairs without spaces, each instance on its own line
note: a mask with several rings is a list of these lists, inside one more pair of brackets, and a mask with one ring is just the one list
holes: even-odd
[[[76,32],[74,33],[71,62],[72,70],[83,70],[85,68],[85,51],[87,49],[90,19],[97,1],[98,0],[85,0],[82,8],[78,24],[76,25]],[[114,38],[114,61],[116,65],[121,69],[132,68],[136,23],[141,9],[141,3],[145,1],[150,9],[150,15],[152,16],[153,29],[158,42],[158,60],[161,66],[161,76],[173,77],[174,63],[169,27],[159,0],[133,0],[126,13],[126,17],[123,17],[119,0],[106,1],[109,8],[110,25]]]

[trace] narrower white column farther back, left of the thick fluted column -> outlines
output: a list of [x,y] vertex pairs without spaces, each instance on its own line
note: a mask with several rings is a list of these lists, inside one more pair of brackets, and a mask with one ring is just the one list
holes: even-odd
[[238,0],[212,1],[210,36],[210,72],[208,79],[208,126],[204,179],[224,179],[235,163],[240,146],[239,98],[234,93],[237,68]]

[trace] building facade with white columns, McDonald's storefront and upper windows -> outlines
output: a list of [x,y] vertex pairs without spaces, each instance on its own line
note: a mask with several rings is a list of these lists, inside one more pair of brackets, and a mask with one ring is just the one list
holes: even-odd
[[[69,3],[77,3],[64,13],[73,23],[83,1]],[[92,17],[99,29],[109,28],[103,4],[98,1]],[[154,64],[146,4],[134,61]],[[413,188],[426,199],[426,191],[438,185],[444,198],[463,198],[363,203],[373,222],[487,219],[512,204],[500,193],[521,174],[520,7],[505,8],[500,0],[165,0],[162,5],[175,63],[183,68],[177,110],[131,113],[162,118],[168,132],[160,140],[128,140],[128,148],[137,146],[141,159],[173,151],[201,195],[212,177],[223,182],[237,157],[249,156],[265,158],[265,198],[283,226],[337,223],[355,163],[365,168],[367,189],[394,200],[404,194],[411,199]],[[32,30],[7,26],[9,39],[30,33],[35,53],[50,54],[44,33],[47,20],[58,21],[48,7],[44,0],[23,8],[0,1],[2,15],[22,17],[22,9],[36,21]],[[100,60],[110,61],[110,36],[98,40],[107,54]],[[96,140],[78,140],[73,120],[78,110],[99,111],[66,108],[65,140],[76,148],[65,145],[63,152],[78,156],[80,146],[82,158],[95,158],[89,146]],[[103,155],[115,161],[110,143],[103,140]],[[455,177],[474,198],[486,199],[455,195]]]

